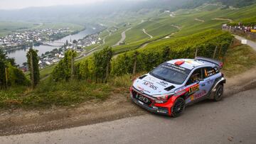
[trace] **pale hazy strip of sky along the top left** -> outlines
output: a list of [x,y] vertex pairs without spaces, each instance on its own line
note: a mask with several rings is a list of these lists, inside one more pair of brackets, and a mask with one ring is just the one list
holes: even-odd
[[92,4],[110,0],[0,0],[0,9],[23,9],[32,6]]

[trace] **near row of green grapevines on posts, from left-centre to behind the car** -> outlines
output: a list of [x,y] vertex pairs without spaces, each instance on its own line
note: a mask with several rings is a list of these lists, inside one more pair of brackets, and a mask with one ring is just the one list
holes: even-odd
[[[107,82],[109,77],[149,72],[162,62],[171,59],[193,58],[195,55],[221,59],[232,40],[233,36],[230,33],[209,30],[183,38],[163,40],[162,43],[151,43],[147,48],[125,52],[112,60],[113,50],[106,47],[96,52],[93,57],[78,62],[75,65],[75,78],[89,82]],[[65,74],[71,75],[70,65],[63,68],[65,71],[58,68],[63,62],[65,58],[53,70],[53,79],[70,78],[67,79],[65,76]]]

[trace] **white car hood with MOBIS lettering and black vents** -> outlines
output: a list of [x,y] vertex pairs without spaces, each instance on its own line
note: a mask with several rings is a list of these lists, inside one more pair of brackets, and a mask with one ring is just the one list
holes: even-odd
[[172,84],[153,77],[151,74],[146,74],[135,79],[133,87],[144,94],[154,96],[174,92],[174,90],[180,88],[181,85]]

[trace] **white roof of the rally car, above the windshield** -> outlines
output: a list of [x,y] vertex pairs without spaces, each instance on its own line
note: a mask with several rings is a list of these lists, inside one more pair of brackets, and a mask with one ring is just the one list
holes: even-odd
[[175,65],[176,62],[182,62],[183,63],[181,65],[179,65],[179,67],[183,67],[189,70],[193,70],[193,68],[195,67],[200,67],[200,66],[206,66],[206,65],[214,65],[211,62],[206,62],[203,60],[195,60],[195,59],[176,59],[176,60],[170,60],[167,63]]

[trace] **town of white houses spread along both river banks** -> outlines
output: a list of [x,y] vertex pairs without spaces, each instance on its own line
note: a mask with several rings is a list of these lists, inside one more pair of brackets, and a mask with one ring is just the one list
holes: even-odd
[[[70,38],[70,40],[66,40],[65,43],[57,43],[56,45],[53,44],[54,40],[59,40],[68,35],[74,35],[80,31],[71,31],[70,28],[38,28],[23,31],[22,33],[16,31],[0,38],[0,48],[5,52],[15,52],[16,50],[26,50],[39,45],[50,47],[51,51],[49,50],[48,52],[38,55],[39,66],[43,69],[44,67],[59,62],[61,58],[64,57],[66,50],[72,49],[78,53],[79,57],[84,56],[82,54],[86,52],[86,47],[102,43],[102,39],[99,38],[99,31],[91,35],[86,35],[80,40],[72,40]],[[56,48],[52,49],[53,47]],[[19,65],[19,68],[23,72],[28,71],[27,62],[23,62],[22,65]]]

